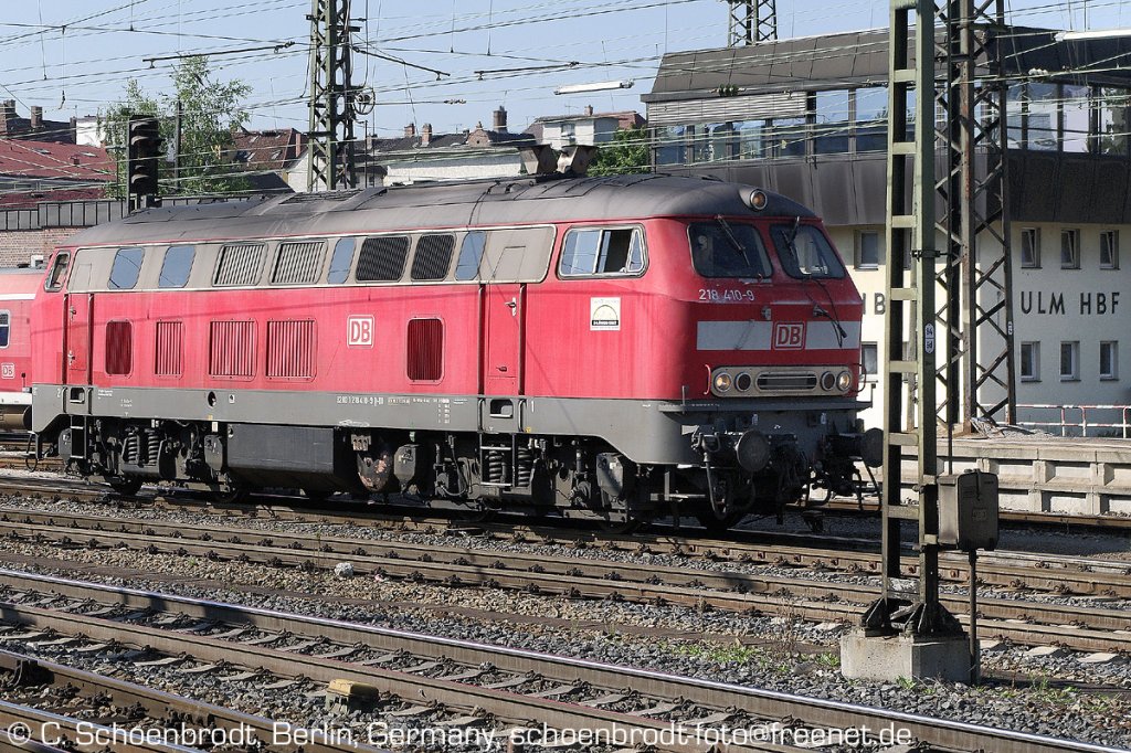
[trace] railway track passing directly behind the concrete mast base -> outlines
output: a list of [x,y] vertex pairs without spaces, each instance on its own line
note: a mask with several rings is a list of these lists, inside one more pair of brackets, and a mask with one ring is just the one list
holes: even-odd
[[[593,557],[546,557],[432,543],[338,538],[94,516],[0,510],[0,536],[60,547],[126,547],[150,554],[333,570],[348,562],[359,575],[411,579],[451,587],[507,588],[569,598],[719,608],[814,622],[854,622],[878,594],[874,585],[786,578],[739,570],[665,568]],[[1011,565],[1012,568],[1012,565]],[[965,595],[944,595],[962,614]],[[1131,651],[1126,609],[1019,598],[981,598],[979,634],[1030,646],[1082,651]]]

